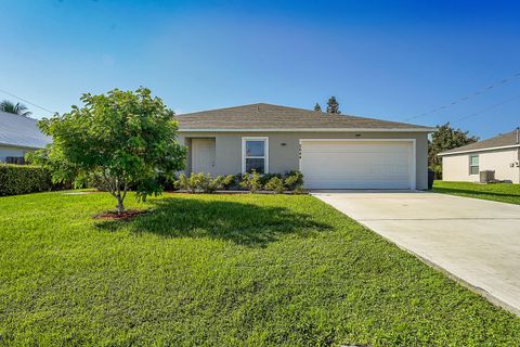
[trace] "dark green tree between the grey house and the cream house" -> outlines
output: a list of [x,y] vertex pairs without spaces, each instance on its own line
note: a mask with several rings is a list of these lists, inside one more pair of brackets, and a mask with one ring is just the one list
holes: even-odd
[[450,123],[437,126],[431,141],[428,141],[428,165],[435,171],[438,178],[441,178],[442,174],[442,158],[438,154],[479,141],[478,137],[468,133],[469,131],[452,128]]

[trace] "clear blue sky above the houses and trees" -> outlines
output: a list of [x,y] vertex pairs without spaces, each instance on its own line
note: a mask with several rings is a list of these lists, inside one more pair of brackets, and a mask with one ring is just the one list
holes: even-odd
[[[334,94],[346,114],[404,120],[520,73],[516,1],[2,0],[1,9],[0,89],[57,112],[82,92],[146,86],[178,113],[311,108]],[[520,126],[520,75],[410,121],[448,120],[482,138]]]

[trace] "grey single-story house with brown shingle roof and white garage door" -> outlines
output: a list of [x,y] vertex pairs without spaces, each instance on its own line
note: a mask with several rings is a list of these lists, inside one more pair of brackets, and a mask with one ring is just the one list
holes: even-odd
[[177,119],[186,174],[300,170],[308,189],[427,189],[434,128],[264,103]]

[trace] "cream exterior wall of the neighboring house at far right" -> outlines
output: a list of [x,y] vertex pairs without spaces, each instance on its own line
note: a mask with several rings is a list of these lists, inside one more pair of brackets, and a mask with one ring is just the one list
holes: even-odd
[[469,156],[479,155],[479,171],[493,170],[497,180],[520,183],[520,167],[517,166],[520,160],[519,151],[520,149],[506,149],[445,155],[442,157],[442,179],[478,182],[479,175],[469,175]]

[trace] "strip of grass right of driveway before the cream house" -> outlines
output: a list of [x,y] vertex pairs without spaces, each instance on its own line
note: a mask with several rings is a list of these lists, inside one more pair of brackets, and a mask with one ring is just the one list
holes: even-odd
[[434,181],[433,192],[520,205],[520,184]]

